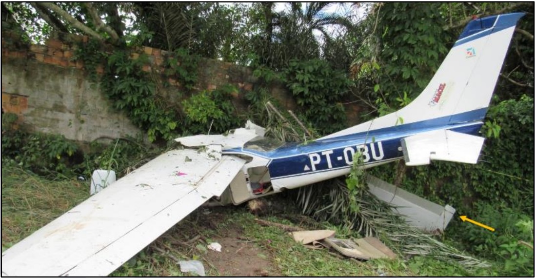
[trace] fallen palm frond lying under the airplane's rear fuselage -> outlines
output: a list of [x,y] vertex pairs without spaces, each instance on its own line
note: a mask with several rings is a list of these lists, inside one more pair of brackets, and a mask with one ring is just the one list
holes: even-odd
[[297,198],[303,213],[319,221],[351,227],[365,236],[378,236],[400,253],[432,256],[464,267],[490,266],[408,225],[391,205],[377,199],[368,190],[362,190],[357,200],[359,210],[351,211],[348,189],[342,179],[301,188]]

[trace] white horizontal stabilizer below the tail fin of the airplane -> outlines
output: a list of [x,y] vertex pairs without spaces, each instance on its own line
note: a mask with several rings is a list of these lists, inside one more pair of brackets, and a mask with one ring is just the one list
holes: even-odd
[[427,165],[430,160],[476,164],[484,141],[479,136],[433,130],[405,137],[401,146],[408,166]]

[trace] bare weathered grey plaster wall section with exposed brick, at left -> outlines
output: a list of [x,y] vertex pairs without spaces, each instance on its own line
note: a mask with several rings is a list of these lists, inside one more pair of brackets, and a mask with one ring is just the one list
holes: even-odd
[[82,71],[33,59],[2,60],[2,109],[19,114],[32,130],[77,141],[139,132],[123,113],[112,111]]

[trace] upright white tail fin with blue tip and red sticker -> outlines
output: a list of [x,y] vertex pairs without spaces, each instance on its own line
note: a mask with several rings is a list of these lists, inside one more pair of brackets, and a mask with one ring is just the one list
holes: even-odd
[[[516,22],[509,13],[469,22],[427,87],[409,105],[328,138],[433,120],[433,125],[480,121],[485,117]],[[401,126],[403,126],[401,125]]]

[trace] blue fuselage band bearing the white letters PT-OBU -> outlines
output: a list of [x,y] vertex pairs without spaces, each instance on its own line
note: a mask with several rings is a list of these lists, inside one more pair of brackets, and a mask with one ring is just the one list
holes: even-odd
[[[364,165],[376,164],[403,157],[401,139],[414,134],[434,129],[449,129],[455,132],[477,135],[481,121],[474,117],[484,117],[486,109],[468,112],[472,121],[465,115],[453,115],[405,125],[370,130],[366,133],[344,135],[315,141],[309,144],[288,143],[270,152],[261,152],[246,148],[224,150],[224,153],[241,153],[269,159],[268,168],[272,180],[284,177],[313,174],[348,168],[353,164],[353,155],[358,150],[363,155]],[[455,118],[457,123],[450,123]],[[358,148],[358,150],[357,150]]]

